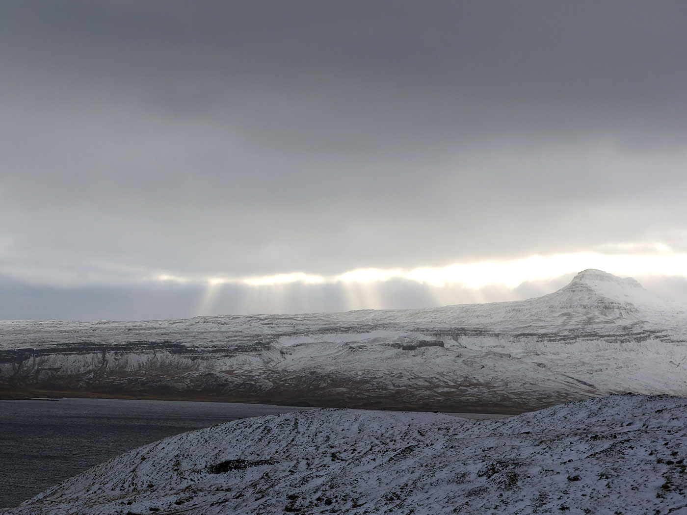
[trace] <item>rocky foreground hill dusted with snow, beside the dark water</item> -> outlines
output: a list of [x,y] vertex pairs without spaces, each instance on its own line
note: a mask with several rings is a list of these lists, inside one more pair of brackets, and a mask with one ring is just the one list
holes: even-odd
[[499,421],[323,409],[161,440],[0,513],[685,514],[686,457],[669,396]]

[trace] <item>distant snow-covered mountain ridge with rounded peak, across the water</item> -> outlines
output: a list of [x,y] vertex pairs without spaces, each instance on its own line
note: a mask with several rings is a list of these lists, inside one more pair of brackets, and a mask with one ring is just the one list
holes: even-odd
[[422,310],[0,322],[0,387],[520,412],[687,396],[687,308],[585,270],[525,301]]

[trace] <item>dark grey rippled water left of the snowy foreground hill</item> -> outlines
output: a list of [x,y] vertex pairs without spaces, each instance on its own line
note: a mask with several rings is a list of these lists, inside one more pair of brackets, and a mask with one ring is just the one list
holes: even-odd
[[0,507],[127,450],[238,418],[301,408],[170,400],[0,401]]

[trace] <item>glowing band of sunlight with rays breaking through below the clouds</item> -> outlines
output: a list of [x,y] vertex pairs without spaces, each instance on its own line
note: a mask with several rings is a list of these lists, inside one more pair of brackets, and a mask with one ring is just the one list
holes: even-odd
[[[629,247],[626,245],[617,248]],[[532,255],[520,260],[456,263],[441,267],[421,266],[409,270],[357,268],[337,275],[303,272],[251,277],[215,275],[200,281],[179,273],[157,273],[152,277],[159,282],[201,282],[205,289],[196,309],[197,314],[214,312],[218,295],[226,285],[239,287],[245,296],[246,312],[283,313],[306,306],[313,310],[313,295],[322,295],[322,288],[314,287],[323,285],[340,288],[345,308],[356,310],[389,307],[385,305],[381,295],[381,286],[384,282],[394,280],[422,284],[436,304],[447,306],[493,299],[510,300],[514,298],[515,288],[521,284],[547,281],[585,268],[600,268],[621,276],[687,277],[687,254],[675,253],[662,244],[652,244],[651,248],[655,251],[648,254],[579,252]]]

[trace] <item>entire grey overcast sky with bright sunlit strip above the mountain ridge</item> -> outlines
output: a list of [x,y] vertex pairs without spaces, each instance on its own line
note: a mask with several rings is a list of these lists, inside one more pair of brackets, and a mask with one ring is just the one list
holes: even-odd
[[686,26],[682,0],[2,2],[0,319],[511,300],[584,268],[687,302]]

